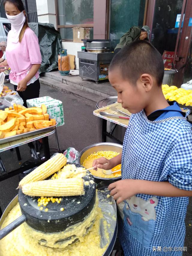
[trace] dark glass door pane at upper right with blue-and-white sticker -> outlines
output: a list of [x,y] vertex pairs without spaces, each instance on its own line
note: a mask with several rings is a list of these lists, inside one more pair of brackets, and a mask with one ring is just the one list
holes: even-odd
[[175,51],[183,0],[156,0],[151,43],[163,55]]

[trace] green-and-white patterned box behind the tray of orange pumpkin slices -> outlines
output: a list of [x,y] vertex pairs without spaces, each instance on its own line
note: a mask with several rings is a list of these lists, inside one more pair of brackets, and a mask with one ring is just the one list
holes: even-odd
[[51,118],[54,118],[57,123],[57,127],[64,125],[64,113],[63,104],[59,100],[55,100],[49,96],[27,100],[27,107],[41,107],[41,104],[45,104],[47,107],[47,113]]

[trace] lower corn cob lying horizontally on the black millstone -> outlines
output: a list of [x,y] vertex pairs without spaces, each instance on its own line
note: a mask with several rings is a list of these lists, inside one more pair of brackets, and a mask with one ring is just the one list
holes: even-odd
[[64,197],[82,195],[83,179],[48,179],[35,181],[22,186],[22,192],[28,196],[38,197]]

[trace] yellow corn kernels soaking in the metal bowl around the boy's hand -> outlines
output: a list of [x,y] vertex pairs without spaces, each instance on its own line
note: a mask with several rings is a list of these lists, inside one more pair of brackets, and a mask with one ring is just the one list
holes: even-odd
[[[118,152],[114,152],[114,151],[98,151],[98,152],[94,152],[93,154],[91,155],[88,155],[88,157],[83,161],[83,166],[88,169],[88,168],[91,168],[92,167],[92,164],[93,164],[93,161],[95,159],[98,159],[100,157],[104,157],[104,158],[107,158],[107,159],[111,159],[115,156],[119,155]],[[112,171],[115,171],[115,170],[120,170],[121,169],[121,164],[119,164],[118,166],[114,167],[112,169]],[[98,168],[97,171],[95,170],[90,170],[90,172],[94,175],[94,176],[98,176],[98,177],[102,177],[102,178],[114,178],[114,177],[119,177],[121,176],[121,171],[119,172],[116,172],[116,173],[112,173],[110,175],[106,175],[102,172],[103,170]]]

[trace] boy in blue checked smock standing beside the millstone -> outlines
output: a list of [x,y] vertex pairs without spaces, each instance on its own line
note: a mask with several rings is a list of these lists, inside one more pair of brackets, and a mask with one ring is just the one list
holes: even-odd
[[161,54],[146,41],[125,46],[110,64],[118,102],[132,115],[122,155],[99,158],[93,166],[107,170],[122,164],[122,180],[109,190],[122,216],[119,238],[125,256],[183,251],[192,196],[192,131],[177,103],[165,100],[163,76]]

